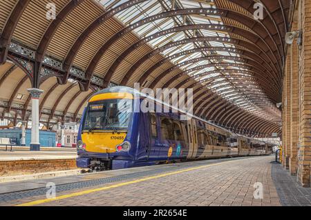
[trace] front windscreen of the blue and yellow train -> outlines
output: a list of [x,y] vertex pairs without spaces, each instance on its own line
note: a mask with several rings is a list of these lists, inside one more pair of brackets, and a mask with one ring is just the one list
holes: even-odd
[[82,130],[127,130],[133,109],[132,99],[107,99],[89,103]]

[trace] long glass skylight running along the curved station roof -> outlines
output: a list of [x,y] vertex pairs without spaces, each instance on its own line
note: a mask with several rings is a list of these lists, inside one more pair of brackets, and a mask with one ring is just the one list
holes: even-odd
[[[105,8],[116,8],[126,0],[97,0],[102,3]],[[214,1],[191,1],[191,0],[150,0],[142,1],[135,4],[126,10],[122,10],[115,15],[124,23],[124,26],[131,26],[133,23],[142,21],[147,17],[151,17],[162,12],[170,10],[187,9],[187,8],[216,8]],[[178,26],[195,25],[195,24],[216,24],[223,26],[223,20],[216,14],[187,14],[176,15],[173,17],[164,17],[147,22],[142,26],[133,28],[133,32],[138,34],[142,39],[149,37],[157,32],[169,30]],[[181,32],[172,32],[164,34],[160,37],[148,41],[153,48],[160,48],[167,43],[173,43],[182,39],[190,39],[194,37],[222,37],[230,38],[230,34],[225,31],[218,30],[184,30]],[[193,54],[184,54],[180,57],[171,57],[173,54],[185,52],[194,48],[227,48],[225,50],[205,50],[203,52],[195,52]],[[209,90],[216,92],[223,99],[234,103],[236,106],[245,110],[254,111],[257,115],[264,115],[267,109],[274,109],[272,101],[267,98],[261,86],[258,84],[254,72],[250,71],[250,66],[245,61],[234,61],[234,57],[241,57],[235,49],[234,44],[229,42],[222,43],[220,41],[195,41],[192,43],[180,44],[176,47],[167,48],[161,52],[164,57],[169,57],[169,60],[177,64],[185,64],[183,62],[196,59],[199,57],[206,57],[200,61],[187,63],[182,65],[182,70],[190,70],[191,68],[204,66],[211,63],[210,67],[198,68],[198,70],[187,71],[189,76],[193,77],[196,81],[201,82]],[[208,56],[228,56],[224,59],[211,59]],[[232,57],[232,59],[229,59]],[[244,56],[242,56],[245,59]],[[227,59],[226,59],[227,58]],[[225,66],[222,63],[229,63]],[[275,112],[274,112],[275,113]]]

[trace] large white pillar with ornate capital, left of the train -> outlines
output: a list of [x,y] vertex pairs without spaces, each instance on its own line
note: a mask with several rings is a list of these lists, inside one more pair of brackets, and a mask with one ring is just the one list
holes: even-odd
[[43,90],[30,88],[31,95],[31,142],[30,150],[40,150],[39,142],[39,97]]

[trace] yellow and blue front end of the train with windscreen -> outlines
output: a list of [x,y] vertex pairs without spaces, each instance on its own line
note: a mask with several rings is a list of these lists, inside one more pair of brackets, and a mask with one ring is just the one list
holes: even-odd
[[133,160],[134,96],[114,90],[97,92],[84,109],[77,141],[79,168],[110,170]]

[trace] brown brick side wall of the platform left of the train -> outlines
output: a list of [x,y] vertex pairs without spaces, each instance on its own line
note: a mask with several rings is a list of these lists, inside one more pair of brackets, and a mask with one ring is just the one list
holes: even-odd
[[77,169],[75,159],[35,159],[0,161],[0,176]]

